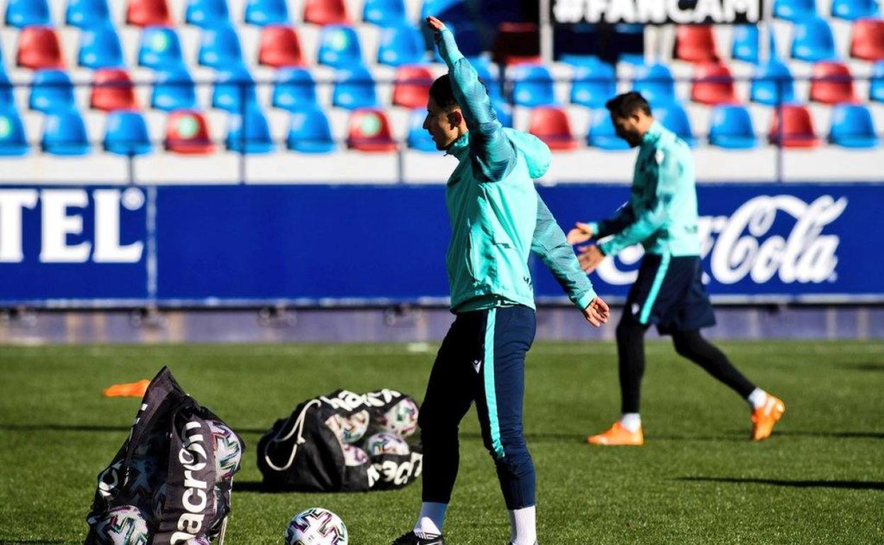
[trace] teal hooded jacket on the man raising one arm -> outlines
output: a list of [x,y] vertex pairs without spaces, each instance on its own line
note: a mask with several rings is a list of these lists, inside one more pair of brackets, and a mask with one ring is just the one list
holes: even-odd
[[446,269],[453,312],[534,308],[531,251],[552,270],[569,299],[587,307],[596,293],[534,187],[534,178],[549,168],[549,148],[531,134],[500,125],[487,90],[451,31],[437,33],[436,42],[469,128],[448,150],[458,159],[446,185],[452,227]]

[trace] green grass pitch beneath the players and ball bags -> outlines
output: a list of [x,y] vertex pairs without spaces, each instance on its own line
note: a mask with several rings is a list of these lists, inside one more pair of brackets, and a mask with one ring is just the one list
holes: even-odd
[[[255,445],[301,399],[337,388],[423,396],[435,346],[400,344],[0,346],[0,543],[80,543],[95,475],[126,437],[133,398],[113,382],[169,365],[248,442],[234,481],[228,545],[281,545],[288,519],[321,506],[351,545],[388,545],[410,528],[420,484],[368,494],[265,494]],[[738,367],[786,402],[773,437],[751,443],[742,399],[648,344],[641,448],[583,437],[619,408],[608,343],[537,343],[525,428],[537,465],[544,545],[884,542],[884,344],[724,343]],[[251,483],[251,485],[250,485]],[[237,485],[240,490],[237,490]],[[507,515],[475,413],[461,426],[450,545],[504,545]]]

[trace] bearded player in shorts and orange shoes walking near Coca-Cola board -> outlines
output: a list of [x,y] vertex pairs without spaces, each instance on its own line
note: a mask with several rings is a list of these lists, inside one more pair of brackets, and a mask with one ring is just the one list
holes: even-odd
[[631,147],[639,147],[631,195],[612,217],[576,223],[568,232],[568,242],[607,238],[579,248],[580,264],[588,273],[606,255],[614,256],[627,246],[641,243],[645,254],[617,324],[621,418],[606,432],[586,440],[601,445],[644,443],[639,400],[644,333],[651,324],[661,335],[672,336],[675,352],[745,398],[752,410],[751,438],[766,439],[785,405],[746,379],[724,353],[700,335],[700,328],[715,324],[715,315],[702,282],[697,187],[690,148],[654,120],[651,107],[638,93],[618,95],[606,107],[617,136]]

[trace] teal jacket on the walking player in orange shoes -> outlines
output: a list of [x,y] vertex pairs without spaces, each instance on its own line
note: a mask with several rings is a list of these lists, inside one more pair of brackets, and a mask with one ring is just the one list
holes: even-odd
[[629,202],[606,220],[591,223],[598,246],[616,255],[641,243],[649,254],[699,255],[697,185],[690,148],[654,121],[636,159]]

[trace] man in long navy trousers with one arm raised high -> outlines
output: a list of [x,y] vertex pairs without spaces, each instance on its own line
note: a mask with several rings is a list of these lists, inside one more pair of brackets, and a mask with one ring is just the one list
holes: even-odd
[[592,325],[607,322],[609,311],[534,187],[533,178],[549,168],[549,148],[500,125],[451,31],[434,17],[427,23],[448,74],[431,86],[423,128],[439,150],[458,160],[446,185],[452,225],[446,268],[456,318],[433,364],[418,420],[421,511],[414,528],[393,543],[444,543],[442,524],[459,464],[458,426],[475,401],[509,511],[511,543],[535,545],[534,464],[522,435],[525,355],[536,327],[530,252]]

